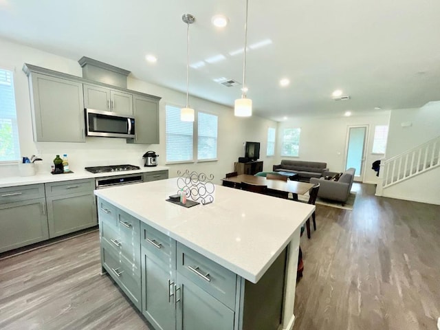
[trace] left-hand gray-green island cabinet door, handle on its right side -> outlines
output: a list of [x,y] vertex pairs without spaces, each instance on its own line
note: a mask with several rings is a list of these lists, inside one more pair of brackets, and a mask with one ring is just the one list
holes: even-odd
[[155,329],[174,330],[176,329],[175,270],[157,259],[146,248],[142,247],[141,253],[142,314]]

